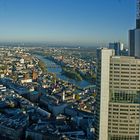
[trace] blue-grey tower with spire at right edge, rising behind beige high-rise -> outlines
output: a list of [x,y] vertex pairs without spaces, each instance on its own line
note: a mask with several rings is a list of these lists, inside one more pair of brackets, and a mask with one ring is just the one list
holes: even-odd
[[129,55],[140,57],[140,0],[137,0],[136,29],[129,31]]

